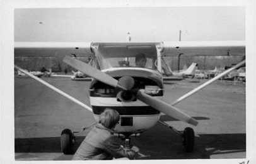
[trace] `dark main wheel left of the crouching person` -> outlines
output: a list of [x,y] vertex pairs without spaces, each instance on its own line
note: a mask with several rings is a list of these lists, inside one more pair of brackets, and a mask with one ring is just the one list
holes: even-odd
[[65,155],[73,154],[74,136],[70,129],[61,132],[61,150]]

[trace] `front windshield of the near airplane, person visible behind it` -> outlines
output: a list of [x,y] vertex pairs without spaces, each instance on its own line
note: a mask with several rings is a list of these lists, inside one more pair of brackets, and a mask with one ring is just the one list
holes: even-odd
[[117,67],[141,67],[156,70],[154,45],[98,45],[94,49],[101,70]]

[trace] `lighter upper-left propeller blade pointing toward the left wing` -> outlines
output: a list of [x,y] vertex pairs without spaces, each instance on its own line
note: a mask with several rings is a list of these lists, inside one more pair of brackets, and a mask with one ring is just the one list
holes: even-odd
[[118,80],[113,79],[110,75],[107,75],[100,70],[91,67],[91,65],[88,65],[87,63],[81,62],[80,60],[76,58],[71,58],[66,56],[63,60],[63,62],[67,63],[68,65],[80,70],[86,75],[89,75],[90,77],[93,77],[96,80],[99,80],[105,84],[108,84],[112,87],[119,87],[120,89],[127,90],[125,87],[122,87],[118,84]]

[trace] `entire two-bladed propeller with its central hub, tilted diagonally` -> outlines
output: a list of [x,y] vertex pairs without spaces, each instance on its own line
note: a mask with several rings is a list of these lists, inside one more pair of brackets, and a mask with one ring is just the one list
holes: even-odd
[[127,94],[133,93],[135,94],[137,99],[144,102],[145,104],[148,104],[151,107],[154,107],[154,109],[161,111],[166,115],[176,118],[180,121],[185,121],[189,124],[193,124],[194,126],[197,125],[197,121],[195,119],[191,118],[189,115],[180,111],[176,107],[173,107],[170,104],[167,104],[166,102],[160,101],[159,99],[155,99],[154,97],[149,96],[144,92],[132,89],[132,87],[134,87],[135,84],[134,79],[132,77],[124,76],[121,77],[119,80],[116,80],[110,75],[107,75],[104,72],[101,72],[100,70],[93,68],[90,65],[81,62],[80,60],[77,60],[76,58],[71,58],[67,56],[64,58],[64,62],[80,70],[84,74],[90,75],[96,80],[99,80],[105,84],[120,89],[120,92],[117,94],[118,97],[122,97],[122,95],[124,95],[125,97],[127,96]]

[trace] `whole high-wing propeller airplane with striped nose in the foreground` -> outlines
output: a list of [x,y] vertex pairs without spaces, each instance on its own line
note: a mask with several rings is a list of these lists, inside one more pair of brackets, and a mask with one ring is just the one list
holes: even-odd
[[[182,110],[177,109],[175,104],[178,104],[245,63],[245,60],[243,60],[234,67],[178,98],[176,101],[172,102],[172,104],[167,104],[161,100],[164,94],[161,72],[162,69],[167,70],[166,63],[163,63],[162,57],[178,55],[180,53],[205,55],[206,52],[209,54],[214,52],[216,55],[223,55],[227,51],[238,52],[245,55],[245,42],[15,43],[15,53],[20,50],[24,52],[24,48],[55,48],[55,50],[57,50],[57,48],[79,48],[83,50],[84,55],[91,56],[92,62],[90,62],[90,64],[68,56],[64,58],[64,62],[84,74],[93,77],[89,90],[91,107],[74,99],[74,97],[69,96],[44,80],[26,72],[22,68],[16,65],[15,68],[26,75],[30,75],[33,79],[47,85],[47,87],[59,92],[80,106],[83,106],[85,109],[92,111],[96,121],[98,121],[100,113],[107,107],[118,111],[120,121],[114,131],[125,139],[125,145],[130,145],[131,136],[143,133],[143,131],[153,127],[154,124],[159,121],[183,138],[184,150],[187,152],[193,151],[194,148],[194,130],[192,128],[185,128],[184,131],[178,131],[159,120],[161,113],[197,126],[198,122],[182,112]],[[146,65],[143,68],[136,66],[135,58],[137,53],[144,53],[146,55]],[[61,148],[63,153],[69,154],[72,152],[75,134],[79,134],[86,128],[74,132],[70,129],[64,129],[62,131]]]

